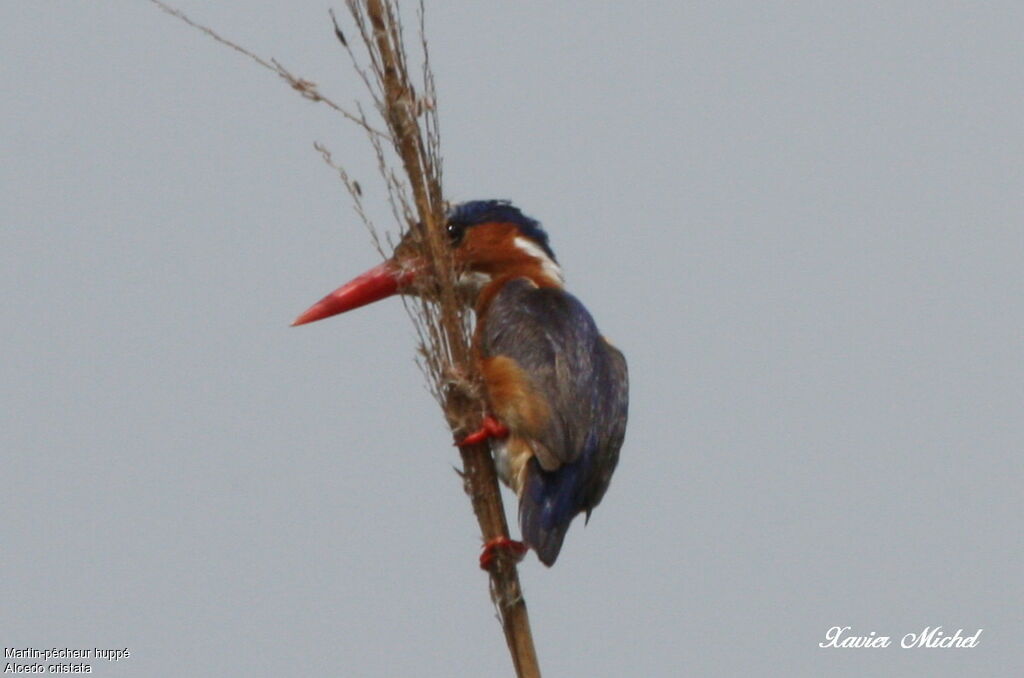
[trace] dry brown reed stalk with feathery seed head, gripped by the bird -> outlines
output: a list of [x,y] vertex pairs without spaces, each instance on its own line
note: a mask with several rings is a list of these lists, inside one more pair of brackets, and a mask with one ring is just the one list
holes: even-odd
[[[417,94],[414,79],[409,72],[396,0],[346,0],[367,50],[369,72],[360,67],[359,59],[353,53],[334,13],[331,13],[335,35],[348,52],[356,73],[370,92],[374,107],[386,125],[386,132],[372,126],[361,108],[355,114],[341,108],[322,94],[314,83],[292,75],[276,60],[257,56],[211,29],[193,22],[161,0],[151,2],[217,42],[248,56],[259,66],[273,71],[303,97],[326,103],[367,132],[388,188],[392,214],[403,232],[407,228],[412,230],[412,242],[421,250],[431,272],[427,277],[431,280],[430,288],[420,290],[418,301],[407,302],[407,309],[420,338],[421,367],[453,433],[461,437],[476,430],[485,404],[480,395],[479,375],[470,353],[471,324],[468,310],[459,299],[457,271],[444,230],[440,136],[434,80],[423,29],[422,0],[419,7],[423,52],[420,81],[422,95]],[[385,142],[390,143],[400,160],[404,180],[392,170]],[[333,162],[330,152],[323,144],[317,143],[315,146],[325,162],[338,171],[352,197],[356,213],[369,227],[374,244],[383,253],[376,229],[362,208],[359,184],[344,168]],[[507,538],[508,523],[488,446],[481,443],[461,447],[459,452],[463,462],[463,485],[472,501],[484,543]],[[499,552],[489,570],[489,587],[516,674],[529,678],[540,676],[516,563],[504,552]]]

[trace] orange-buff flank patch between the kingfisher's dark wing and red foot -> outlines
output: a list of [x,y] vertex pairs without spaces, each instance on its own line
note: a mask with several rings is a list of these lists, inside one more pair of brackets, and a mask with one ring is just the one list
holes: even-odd
[[480,363],[487,399],[495,416],[513,435],[537,437],[551,417],[548,405],[529,377],[510,357],[496,355]]

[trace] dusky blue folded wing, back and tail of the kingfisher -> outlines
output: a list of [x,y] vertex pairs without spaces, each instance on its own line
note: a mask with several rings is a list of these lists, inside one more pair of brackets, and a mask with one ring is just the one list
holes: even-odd
[[482,328],[484,357],[506,355],[528,375],[551,418],[538,435],[548,455],[528,462],[519,500],[523,540],[552,564],[569,523],[600,503],[626,434],[626,358],[586,307],[557,288],[524,279],[495,297]]

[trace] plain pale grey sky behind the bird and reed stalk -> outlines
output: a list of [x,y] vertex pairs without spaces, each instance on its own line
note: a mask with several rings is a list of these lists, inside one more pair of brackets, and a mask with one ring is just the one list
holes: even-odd
[[[429,3],[446,189],[547,226],[626,353],[550,676],[1024,670],[1020,3]],[[316,3],[178,3],[338,99]],[[458,455],[324,141],[145,2],[0,5],[0,642],[97,676],[506,675]],[[983,628],[822,649],[831,626]]]

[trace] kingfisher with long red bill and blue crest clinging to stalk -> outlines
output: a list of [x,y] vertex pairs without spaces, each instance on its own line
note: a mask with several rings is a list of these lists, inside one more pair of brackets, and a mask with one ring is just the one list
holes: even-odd
[[[509,201],[455,205],[445,228],[460,296],[474,310],[471,354],[487,414],[457,444],[490,440],[499,476],[519,500],[522,542],[484,545],[551,566],[569,524],[604,497],[626,434],[626,358],[564,287],[541,224]],[[394,255],[302,313],[305,325],[394,294],[425,289],[427,267],[407,235]],[[429,282],[429,281],[426,281]]]

